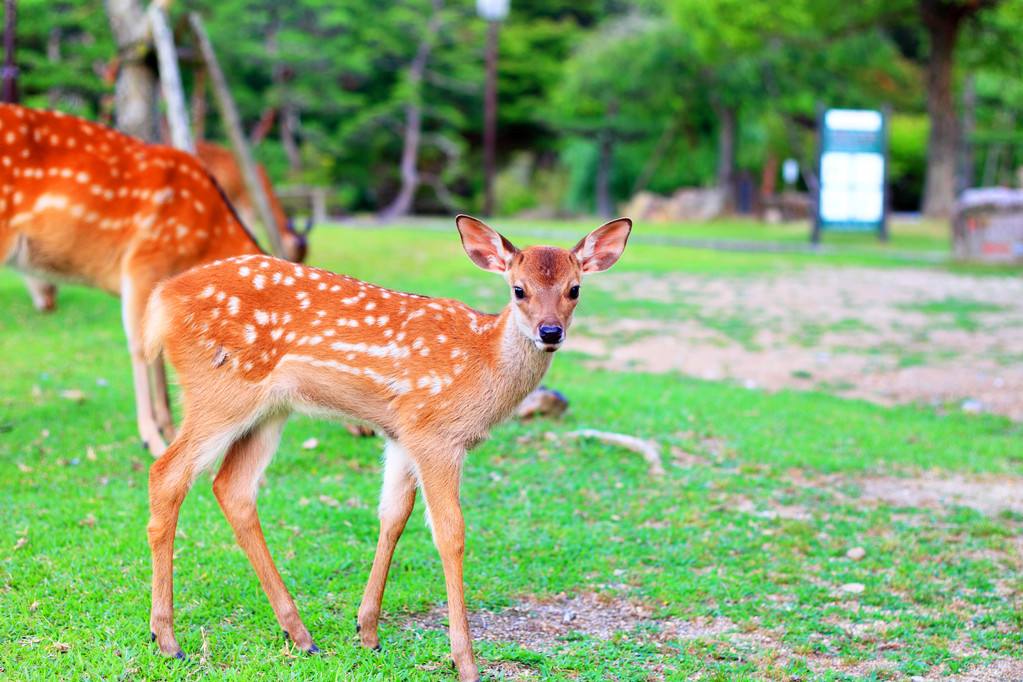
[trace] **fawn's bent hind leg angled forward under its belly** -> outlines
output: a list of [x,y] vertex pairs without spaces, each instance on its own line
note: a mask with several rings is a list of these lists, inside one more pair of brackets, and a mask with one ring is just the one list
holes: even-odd
[[224,516],[234,530],[238,545],[256,570],[260,585],[270,600],[284,634],[303,651],[315,653],[319,648],[313,643],[309,631],[299,618],[295,601],[270,557],[256,510],[259,480],[277,450],[285,419],[286,417],[271,418],[235,441],[214,479],[213,492]]

